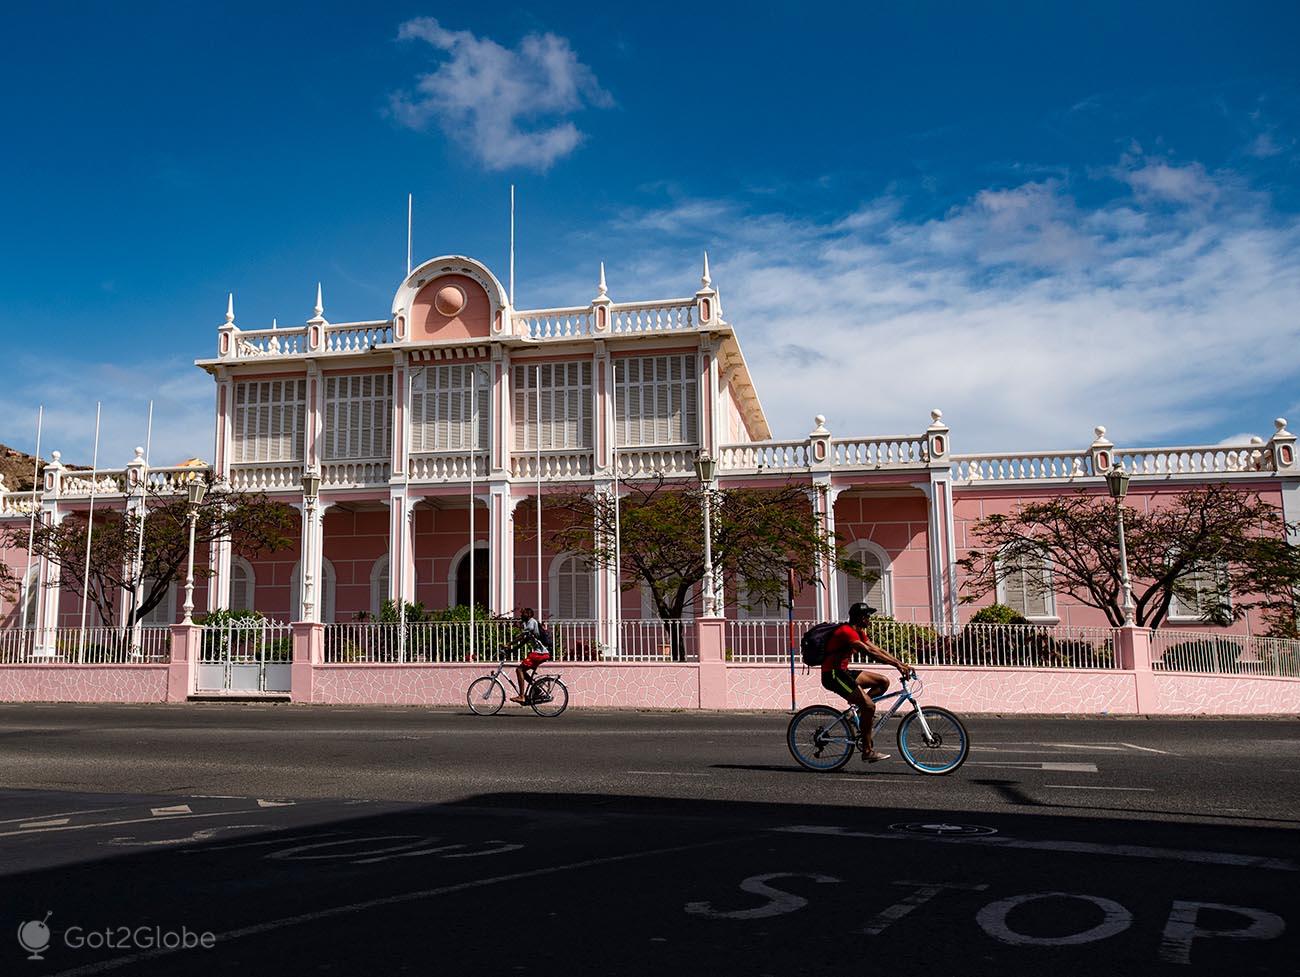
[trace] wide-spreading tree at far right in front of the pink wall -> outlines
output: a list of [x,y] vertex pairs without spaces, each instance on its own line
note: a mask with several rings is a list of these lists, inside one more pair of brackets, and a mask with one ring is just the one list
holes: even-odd
[[[1206,624],[1230,624],[1252,608],[1264,612],[1274,634],[1295,634],[1300,547],[1277,505],[1254,492],[1210,485],[1156,500],[1147,509],[1124,507],[1124,540],[1134,590],[1134,618],[1160,628],[1175,598],[1197,607]],[[965,603],[978,600],[1027,560],[1046,560],[1052,586],[1123,624],[1123,583],[1115,504],[1079,492],[1023,503],[1009,514],[980,520],[979,548],[959,565]],[[1217,579],[1219,600],[1196,592],[1197,577]]]

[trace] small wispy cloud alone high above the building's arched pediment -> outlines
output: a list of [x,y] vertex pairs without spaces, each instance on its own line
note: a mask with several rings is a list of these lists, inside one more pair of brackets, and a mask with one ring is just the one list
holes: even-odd
[[400,26],[398,38],[422,40],[446,60],[420,75],[413,91],[391,96],[393,116],[416,130],[437,122],[491,170],[547,169],[582,142],[567,117],[612,104],[592,69],[555,34],[529,34],[506,48],[417,17]]

